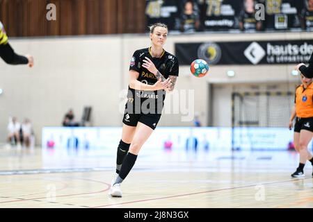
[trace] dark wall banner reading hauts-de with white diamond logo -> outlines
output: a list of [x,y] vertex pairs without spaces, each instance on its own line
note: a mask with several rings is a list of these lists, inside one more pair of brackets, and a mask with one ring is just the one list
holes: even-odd
[[313,40],[177,43],[179,65],[190,65],[196,58],[218,65],[298,64],[307,62]]

